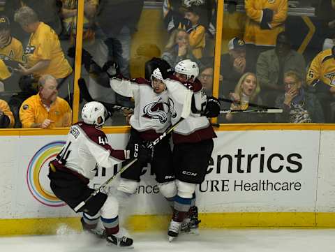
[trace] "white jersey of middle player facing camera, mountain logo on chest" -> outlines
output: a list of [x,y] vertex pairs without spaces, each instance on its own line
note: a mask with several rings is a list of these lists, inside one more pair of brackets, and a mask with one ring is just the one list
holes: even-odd
[[170,126],[168,91],[156,94],[151,82],[143,78],[113,78],[110,80],[110,87],[121,96],[134,98],[135,109],[129,123],[144,140],[155,140]]

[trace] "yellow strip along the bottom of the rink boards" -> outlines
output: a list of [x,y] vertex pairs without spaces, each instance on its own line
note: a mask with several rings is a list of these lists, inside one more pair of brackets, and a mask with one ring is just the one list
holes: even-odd
[[[200,214],[200,228],[335,228],[335,213],[260,212]],[[133,232],[167,230],[170,216],[137,215],[128,218]],[[52,235],[61,225],[80,231],[80,218],[1,219],[0,236]]]

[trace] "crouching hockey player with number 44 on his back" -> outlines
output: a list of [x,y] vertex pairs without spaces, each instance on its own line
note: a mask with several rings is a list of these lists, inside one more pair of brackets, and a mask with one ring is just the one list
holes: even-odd
[[[93,101],[85,104],[82,119],[70,127],[66,144],[57,158],[50,162],[48,175],[54,194],[72,209],[94,192],[88,184],[96,174],[96,163],[112,168],[114,164],[134,156],[137,156],[137,162],[141,162],[149,154],[145,147],[137,143],[128,144],[126,149],[112,149],[107,136],[101,131],[107,119],[107,111],[101,103]],[[100,218],[105,228],[105,234],[101,234],[101,237],[105,237],[110,244],[131,246],[133,239],[119,231],[118,209],[116,198],[99,192],[78,210],[83,213],[83,230],[96,232]]]

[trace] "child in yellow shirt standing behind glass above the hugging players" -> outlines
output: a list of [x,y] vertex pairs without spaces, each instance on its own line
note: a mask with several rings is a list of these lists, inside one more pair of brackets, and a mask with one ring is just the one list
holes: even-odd
[[205,45],[206,29],[202,25],[202,22],[200,22],[202,12],[202,6],[194,5],[191,5],[185,10],[185,18],[186,20],[190,21],[186,27],[189,38],[188,40],[192,49],[192,53],[197,59],[202,58],[202,50],[204,49]]

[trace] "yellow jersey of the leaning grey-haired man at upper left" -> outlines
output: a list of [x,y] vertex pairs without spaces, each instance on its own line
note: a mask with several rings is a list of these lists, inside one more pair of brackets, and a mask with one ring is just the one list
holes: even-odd
[[50,74],[60,79],[72,72],[70,64],[64,57],[64,52],[61,50],[61,43],[57,34],[43,22],[40,22],[38,29],[31,34],[24,54],[27,57],[29,68],[35,66],[41,60],[50,60],[50,65],[47,68],[34,73],[36,77]]

